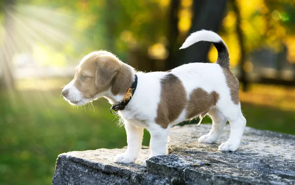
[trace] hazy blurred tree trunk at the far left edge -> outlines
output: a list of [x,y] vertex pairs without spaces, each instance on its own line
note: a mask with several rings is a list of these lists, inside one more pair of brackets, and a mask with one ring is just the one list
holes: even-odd
[[1,69],[1,86],[8,90],[14,90],[14,77],[13,77],[13,64],[12,58],[15,54],[14,40],[13,40],[13,28],[14,23],[11,17],[13,13],[13,6],[16,0],[5,0],[3,7],[1,7],[4,12],[4,39],[1,43],[0,48],[0,69]]

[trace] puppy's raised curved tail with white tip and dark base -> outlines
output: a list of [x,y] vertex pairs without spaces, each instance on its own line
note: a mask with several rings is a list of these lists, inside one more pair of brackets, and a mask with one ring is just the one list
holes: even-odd
[[229,51],[225,43],[223,42],[222,38],[213,31],[202,29],[201,31],[196,31],[190,34],[186,38],[182,46],[179,48],[179,50],[187,48],[195,44],[196,42],[200,42],[200,41],[211,42],[215,46],[218,52],[218,58],[216,63],[219,64],[221,67],[225,67],[227,69],[230,68]]

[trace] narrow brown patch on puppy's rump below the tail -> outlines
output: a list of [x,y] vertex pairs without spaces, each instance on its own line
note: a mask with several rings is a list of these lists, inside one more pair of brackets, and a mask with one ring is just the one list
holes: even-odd
[[235,75],[227,68],[222,67],[223,73],[226,78],[226,83],[231,89],[231,97],[232,101],[238,105],[239,98],[238,98],[238,91],[239,91],[239,82],[238,79],[235,77]]

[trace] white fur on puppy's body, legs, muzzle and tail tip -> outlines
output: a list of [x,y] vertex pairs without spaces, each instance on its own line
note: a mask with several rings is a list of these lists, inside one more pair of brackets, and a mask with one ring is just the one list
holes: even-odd
[[[191,34],[181,48],[186,48],[201,40],[211,42],[222,41],[216,33],[202,30]],[[81,63],[85,60],[86,58]],[[135,73],[131,66],[130,69]],[[241,113],[240,104],[234,104],[231,99],[230,88],[227,85],[221,66],[210,63],[190,63],[179,66],[170,73],[176,75],[181,80],[187,95],[196,88],[202,88],[208,93],[216,91],[219,94],[219,100],[216,106],[212,107],[207,113],[212,118],[212,128],[208,134],[199,138],[199,142],[216,142],[228,120],[231,126],[230,137],[218,149],[221,151],[236,151],[246,125],[246,120]],[[155,123],[161,94],[160,81],[167,74],[167,72],[137,73],[138,85],[136,91],[125,109],[118,111],[119,116],[124,120],[128,147],[125,153],[116,157],[115,161],[131,163],[137,159],[141,148],[144,128],[151,135],[150,157],[167,154],[168,133],[171,126],[186,119],[186,110],[184,109],[180,116],[173,123],[170,123],[167,129],[163,129]],[[73,102],[80,101],[81,103],[79,105],[87,103],[88,100],[83,99],[73,82],[70,82],[65,88],[70,90],[70,100]],[[123,95],[115,96],[110,90],[98,96],[104,96],[111,104],[121,102],[124,97]],[[98,98],[98,96],[95,98]],[[142,165],[145,166],[146,161],[143,161]]]

